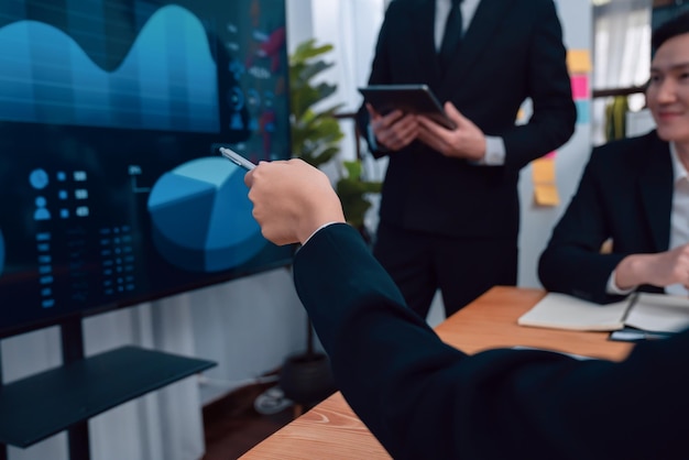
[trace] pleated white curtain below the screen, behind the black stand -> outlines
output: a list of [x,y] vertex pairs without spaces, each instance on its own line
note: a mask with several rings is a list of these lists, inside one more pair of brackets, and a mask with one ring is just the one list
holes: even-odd
[[[86,355],[123,344],[194,355],[186,326],[188,307],[182,300],[177,297],[88,318],[84,321]],[[2,340],[3,382],[59,365],[59,350],[57,328]],[[175,408],[183,416],[166,419],[164,415]],[[89,420],[89,431],[92,459],[199,458],[204,437],[196,380],[184,379],[102,413]],[[10,460],[67,459],[67,437],[58,434],[26,449],[9,447],[8,453]]]

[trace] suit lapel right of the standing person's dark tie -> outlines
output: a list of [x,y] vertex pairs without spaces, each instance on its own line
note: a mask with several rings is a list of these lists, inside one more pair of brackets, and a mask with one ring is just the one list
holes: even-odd
[[[451,94],[466,75],[466,69],[471,68],[474,62],[483,54],[491,42],[491,37],[497,32],[502,19],[512,10],[515,0],[481,0],[469,24],[457,58],[448,68],[442,78],[442,92]],[[499,58],[496,56],[496,58]],[[437,65],[437,64],[436,64]]]

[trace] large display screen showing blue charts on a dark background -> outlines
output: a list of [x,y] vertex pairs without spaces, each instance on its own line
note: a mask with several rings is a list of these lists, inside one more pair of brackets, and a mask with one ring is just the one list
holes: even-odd
[[0,2],[0,337],[287,265],[244,171],[291,156],[284,0]]

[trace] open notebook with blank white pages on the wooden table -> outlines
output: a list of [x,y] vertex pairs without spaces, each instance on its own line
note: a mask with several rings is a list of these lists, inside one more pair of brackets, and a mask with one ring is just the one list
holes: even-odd
[[599,305],[548,293],[517,322],[550,329],[613,331],[633,327],[654,332],[679,332],[689,327],[689,298],[636,293],[622,302]]

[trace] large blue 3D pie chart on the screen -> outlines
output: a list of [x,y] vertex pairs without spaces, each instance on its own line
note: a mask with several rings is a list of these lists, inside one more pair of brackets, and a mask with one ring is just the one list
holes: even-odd
[[232,269],[267,241],[251,216],[244,171],[198,158],[162,175],[149,196],[153,242],[171,264],[193,272]]

